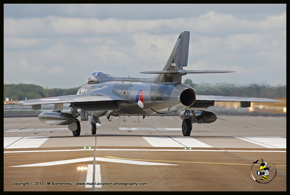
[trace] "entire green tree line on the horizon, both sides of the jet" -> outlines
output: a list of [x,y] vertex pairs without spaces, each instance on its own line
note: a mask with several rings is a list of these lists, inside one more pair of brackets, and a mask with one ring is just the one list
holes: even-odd
[[[239,96],[256,98],[286,98],[286,85],[271,86],[267,83],[250,83],[240,85],[235,83],[193,83],[191,79],[186,79],[184,84],[191,86],[196,95],[212,96]],[[60,89],[47,89],[33,84],[4,84],[5,98],[13,100],[37,99],[55,96],[67,96],[77,93],[80,87]]]

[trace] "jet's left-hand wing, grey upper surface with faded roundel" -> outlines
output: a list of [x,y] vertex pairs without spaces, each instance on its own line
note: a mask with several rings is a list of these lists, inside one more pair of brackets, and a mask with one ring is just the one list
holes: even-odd
[[128,99],[121,96],[118,92],[116,92],[111,87],[104,86],[101,88],[93,89],[83,94],[21,100],[17,102],[17,104],[37,105],[37,104],[57,104],[57,103],[106,102],[106,101],[120,101],[120,100],[128,100]]

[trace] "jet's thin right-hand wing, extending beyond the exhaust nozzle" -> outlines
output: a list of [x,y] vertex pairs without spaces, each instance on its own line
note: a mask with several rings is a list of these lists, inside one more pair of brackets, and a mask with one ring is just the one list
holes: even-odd
[[275,99],[268,98],[248,98],[248,97],[233,97],[233,96],[204,96],[196,95],[198,101],[215,101],[215,102],[263,102],[263,103],[274,103],[281,102]]

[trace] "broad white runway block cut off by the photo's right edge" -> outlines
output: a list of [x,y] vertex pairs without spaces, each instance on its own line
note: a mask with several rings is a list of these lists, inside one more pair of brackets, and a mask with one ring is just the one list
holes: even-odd
[[266,148],[286,148],[286,138],[281,137],[236,137]]

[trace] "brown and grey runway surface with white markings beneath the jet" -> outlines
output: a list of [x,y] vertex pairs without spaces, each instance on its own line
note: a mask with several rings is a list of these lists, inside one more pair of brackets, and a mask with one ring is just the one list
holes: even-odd
[[[96,135],[83,121],[80,137],[4,118],[4,191],[286,191],[286,117],[219,118],[190,137],[179,117],[101,117]],[[255,175],[261,158],[266,180]]]

